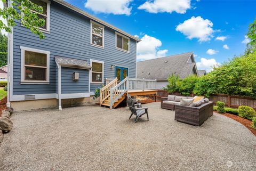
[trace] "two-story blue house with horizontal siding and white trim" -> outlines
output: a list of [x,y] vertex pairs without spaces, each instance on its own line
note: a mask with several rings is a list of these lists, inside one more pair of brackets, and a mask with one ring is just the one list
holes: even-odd
[[62,105],[92,101],[106,78],[135,78],[139,38],[65,1],[32,2],[43,6],[38,15],[46,21],[45,39],[15,20],[9,34],[8,106],[61,110],[61,99]]

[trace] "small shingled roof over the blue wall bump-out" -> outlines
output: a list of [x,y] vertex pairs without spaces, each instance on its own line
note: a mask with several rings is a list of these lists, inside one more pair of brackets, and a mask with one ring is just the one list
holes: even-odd
[[90,64],[84,60],[77,60],[73,58],[65,58],[61,56],[54,56],[57,64],[61,66],[79,67],[79,68],[91,68]]

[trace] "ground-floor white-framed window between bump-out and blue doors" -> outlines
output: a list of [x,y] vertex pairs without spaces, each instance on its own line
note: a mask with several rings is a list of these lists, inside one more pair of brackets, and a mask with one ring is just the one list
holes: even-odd
[[91,62],[91,83],[103,84],[104,79],[104,62],[97,60],[90,60]]

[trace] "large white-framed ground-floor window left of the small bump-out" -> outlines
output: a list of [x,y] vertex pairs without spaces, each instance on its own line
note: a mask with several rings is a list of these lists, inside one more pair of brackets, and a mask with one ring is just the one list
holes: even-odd
[[49,84],[50,53],[35,48],[21,49],[21,84]]

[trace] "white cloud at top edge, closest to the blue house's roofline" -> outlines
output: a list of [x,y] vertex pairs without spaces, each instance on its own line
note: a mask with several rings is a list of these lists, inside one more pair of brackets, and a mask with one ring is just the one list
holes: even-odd
[[94,12],[107,14],[130,15],[132,7],[129,7],[132,0],[87,0],[84,6]]

